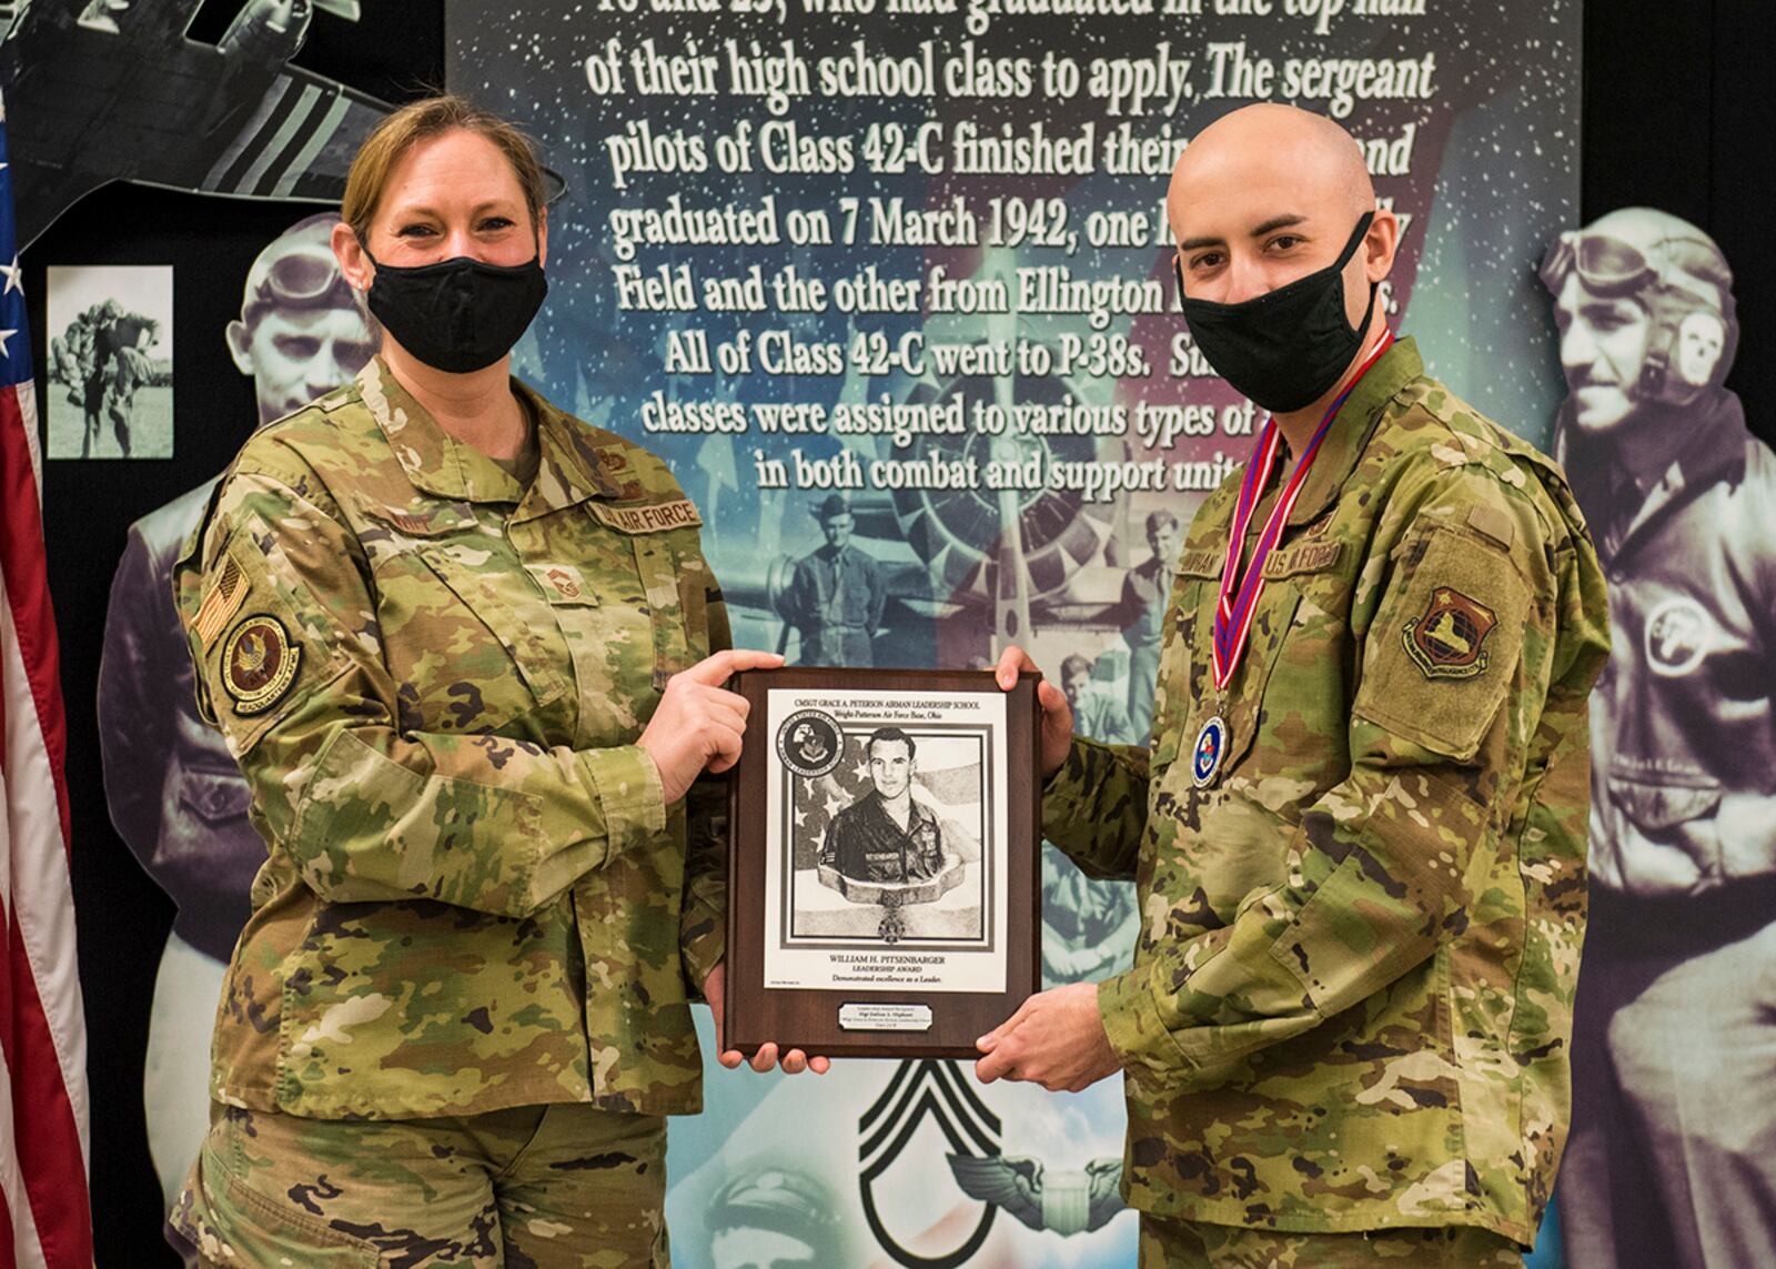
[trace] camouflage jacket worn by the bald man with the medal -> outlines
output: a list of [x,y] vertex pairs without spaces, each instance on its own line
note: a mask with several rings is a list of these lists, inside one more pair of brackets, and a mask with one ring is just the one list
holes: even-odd
[[[1074,741],[1044,800],[1048,837],[1142,905],[1133,969],[1098,992],[1128,1201],[1527,1242],[1566,1132],[1595,551],[1559,467],[1401,341],[1334,423],[1217,704],[1240,475],[1183,547],[1151,762]],[[1197,789],[1217,711],[1227,757]]]

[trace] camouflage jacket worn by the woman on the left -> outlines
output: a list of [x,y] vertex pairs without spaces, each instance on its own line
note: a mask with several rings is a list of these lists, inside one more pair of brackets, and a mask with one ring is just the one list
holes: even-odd
[[700,1107],[719,796],[664,805],[636,738],[726,610],[664,464],[513,387],[527,491],[375,359],[247,443],[174,571],[270,848],[220,1102]]

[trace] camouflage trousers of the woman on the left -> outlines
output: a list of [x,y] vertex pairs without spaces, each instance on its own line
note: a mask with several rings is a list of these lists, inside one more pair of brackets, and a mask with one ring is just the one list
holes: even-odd
[[437,1120],[213,1107],[172,1210],[186,1264],[666,1269],[666,1121],[590,1105]]

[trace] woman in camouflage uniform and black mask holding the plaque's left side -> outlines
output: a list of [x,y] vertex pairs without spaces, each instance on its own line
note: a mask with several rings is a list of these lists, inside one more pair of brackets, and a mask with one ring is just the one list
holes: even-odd
[[726,650],[666,466],[508,377],[542,190],[458,100],[364,142],[334,251],[382,354],[247,443],[174,571],[270,848],[174,1212],[204,1264],[666,1264],[725,933],[693,786],[780,658]]

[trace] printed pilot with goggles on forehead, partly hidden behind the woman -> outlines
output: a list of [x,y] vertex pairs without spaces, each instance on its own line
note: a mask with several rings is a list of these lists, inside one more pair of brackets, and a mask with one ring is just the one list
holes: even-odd
[[[247,270],[227,341],[254,380],[258,427],[346,382],[375,350],[368,316],[327,245],[337,220],[298,220]],[[229,451],[236,444],[231,435]],[[98,682],[112,825],[179,906],[155,983],[142,1079],[149,1153],[169,1209],[208,1130],[210,1024],[247,922],[247,890],[265,862],[265,841],[247,821],[247,782],[222,734],[197,716],[192,658],[172,606],[172,563],[215,485],[206,480],[130,526]]]

